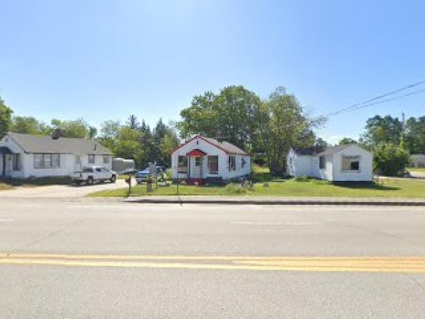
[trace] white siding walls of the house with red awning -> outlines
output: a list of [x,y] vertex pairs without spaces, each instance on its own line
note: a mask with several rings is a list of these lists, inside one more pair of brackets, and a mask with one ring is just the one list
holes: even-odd
[[[251,159],[249,155],[234,155],[236,157],[236,169],[234,171],[229,172],[229,155],[220,150],[220,148],[215,147],[215,145],[211,145],[209,142],[206,142],[202,138],[196,138],[191,140],[186,145],[183,145],[178,150],[175,150],[171,155],[171,169],[173,171],[173,178],[186,178],[186,174],[178,173],[178,165],[179,165],[179,156],[186,156],[188,152],[191,150],[198,149],[207,154],[207,156],[203,157],[202,162],[202,178],[206,177],[222,177],[222,179],[233,179],[236,177],[241,177],[251,173]],[[208,155],[210,156],[218,156],[218,174],[209,174],[208,172]],[[242,157],[245,159],[245,166],[242,168]],[[194,172],[195,168],[195,160],[194,157],[191,157],[190,161],[190,169],[191,172]]]

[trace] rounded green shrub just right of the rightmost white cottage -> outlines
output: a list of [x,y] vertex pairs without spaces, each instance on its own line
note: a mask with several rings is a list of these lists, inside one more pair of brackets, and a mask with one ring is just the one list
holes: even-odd
[[373,170],[385,176],[399,176],[409,164],[409,152],[392,143],[384,143],[373,150]]

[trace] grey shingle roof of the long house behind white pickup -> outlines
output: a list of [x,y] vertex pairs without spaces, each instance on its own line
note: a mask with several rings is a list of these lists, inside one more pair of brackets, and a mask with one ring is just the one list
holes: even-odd
[[108,150],[101,143],[87,138],[59,138],[54,140],[50,136],[18,133],[8,133],[7,135],[28,153],[112,155],[111,150]]

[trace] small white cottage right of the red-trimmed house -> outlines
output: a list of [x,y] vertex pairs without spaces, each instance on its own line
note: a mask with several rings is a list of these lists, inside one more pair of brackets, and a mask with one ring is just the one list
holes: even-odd
[[290,149],[287,172],[292,177],[328,181],[372,181],[373,155],[358,145]]

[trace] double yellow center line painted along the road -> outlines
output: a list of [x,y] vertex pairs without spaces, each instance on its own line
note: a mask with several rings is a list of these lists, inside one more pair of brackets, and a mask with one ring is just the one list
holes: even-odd
[[293,272],[424,273],[425,257],[261,257],[106,254],[0,254],[1,265],[175,268]]

